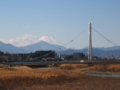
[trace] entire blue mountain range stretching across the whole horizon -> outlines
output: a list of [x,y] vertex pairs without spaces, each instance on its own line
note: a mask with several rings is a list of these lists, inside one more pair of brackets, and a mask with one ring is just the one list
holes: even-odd
[[[9,52],[9,53],[29,53],[29,52],[35,52],[39,50],[54,50],[58,54],[66,54],[70,55],[73,53],[84,53],[87,55],[88,48],[84,49],[67,49],[66,47],[63,47],[61,45],[57,44],[50,44],[45,41],[40,41],[38,43],[27,45],[24,47],[16,47],[11,44],[5,44],[3,42],[0,42],[0,50],[3,52]],[[118,47],[108,47],[108,48],[93,48],[92,49],[93,56],[99,56],[99,57],[112,57],[112,55],[116,58],[120,58],[120,48]]]

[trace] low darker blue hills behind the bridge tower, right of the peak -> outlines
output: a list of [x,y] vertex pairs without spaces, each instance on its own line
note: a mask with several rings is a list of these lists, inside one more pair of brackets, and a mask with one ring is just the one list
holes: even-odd
[[[98,56],[98,57],[106,57],[106,58],[120,58],[120,49],[114,49],[112,50],[113,47],[109,47],[109,49],[101,49],[101,48],[92,48],[92,54],[93,56]],[[115,47],[117,48],[117,47]],[[84,49],[67,49],[64,51],[57,51],[58,54],[66,54],[66,55],[71,55],[73,53],[84,53],[86,56],[88,55],[88,48]]]

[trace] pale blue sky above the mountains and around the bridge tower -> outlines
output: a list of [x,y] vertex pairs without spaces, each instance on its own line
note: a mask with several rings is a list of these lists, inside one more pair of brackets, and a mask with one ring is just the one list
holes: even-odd
[[[66,47],[88,46],[88,23],[120,46],[120,0],[0,0],[0,41],[17,47],[49,36]],[[111,43],[92,30],[93,47]],[[19,43],[15,44],[15,43]]]

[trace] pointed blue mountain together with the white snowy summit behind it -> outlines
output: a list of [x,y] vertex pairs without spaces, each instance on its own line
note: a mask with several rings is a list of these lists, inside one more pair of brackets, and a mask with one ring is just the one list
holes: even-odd
[[62,46],[57,40],[50,36],[43,36],[39,38],[39,42],[21,47],[27,51],[38,51],[38,50],[54,50],[54,51],[63,51],[67,48]]

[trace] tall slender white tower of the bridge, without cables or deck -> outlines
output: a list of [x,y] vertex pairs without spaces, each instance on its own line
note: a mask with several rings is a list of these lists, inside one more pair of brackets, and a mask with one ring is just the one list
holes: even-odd
[[91,35],[91,23],[88,24],[88,60],[92,60],[92,35]]

